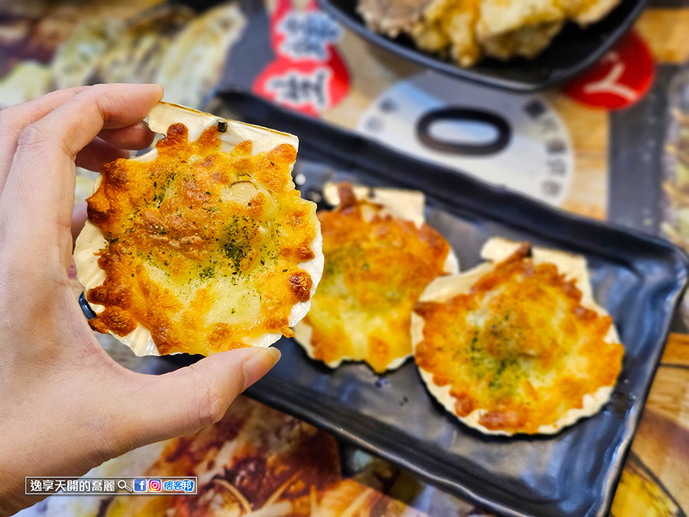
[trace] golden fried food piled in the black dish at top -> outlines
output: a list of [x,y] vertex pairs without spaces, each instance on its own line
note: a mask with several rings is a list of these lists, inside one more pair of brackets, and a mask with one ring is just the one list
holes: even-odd
[[409,35],[418,48],[470,67],[482,57],[533,58],[572,21],[582,28],[619,0],[358,0],[376,32]]

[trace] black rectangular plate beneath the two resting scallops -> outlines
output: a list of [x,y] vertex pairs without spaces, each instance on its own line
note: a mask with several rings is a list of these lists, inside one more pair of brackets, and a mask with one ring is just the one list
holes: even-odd
[[286,338],[277,345],[282,358],[250,396],[499,514],[606,515],[686,287],[686,254],[667,241],[553,210],[247,94],[218,94],[207,109],[297,134],[294,174],[305,176],[302,195],[318,194],[328,180],[424,191],[428,222],[449,240],[462,270],[479,262],[491,236],[583,254],[595,298],[613,315],[625,345],[610,403],[554,436],[484,436],[435,403],[413,361],[384,376],[362,364],[331,370]]

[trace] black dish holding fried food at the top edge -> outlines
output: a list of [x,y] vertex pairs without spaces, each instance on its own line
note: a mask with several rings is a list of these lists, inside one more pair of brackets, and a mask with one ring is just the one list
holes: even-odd
[[534,59],[484,59],[471,68],[418,50],[405,36],[391,39],[369,30],[356,12],[358,0],[318,0],[342,25],[361,37],[439,72],[516,92],[534,92],[561,83],[592,65],[632,26],[645,0],[622,0],[608,17],[585,30],[567,23],[544,52]]

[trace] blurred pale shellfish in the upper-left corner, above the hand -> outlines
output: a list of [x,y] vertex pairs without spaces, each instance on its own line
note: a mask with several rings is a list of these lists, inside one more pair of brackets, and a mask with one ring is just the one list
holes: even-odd
[[46,1],[0,13],[0,108],[116,82],[156,82],[166,100],[199,107],[245,26],[236,2],[197,13],[161,0]]

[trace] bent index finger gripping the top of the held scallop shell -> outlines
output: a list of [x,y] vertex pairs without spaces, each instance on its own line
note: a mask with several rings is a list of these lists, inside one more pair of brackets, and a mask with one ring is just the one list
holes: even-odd
[[162,97],[158,85],[95,85],[28,125],[2,193],[0,215],[8,230],[56,241],[71,225],[76,154],[104,128],[142,121]]

